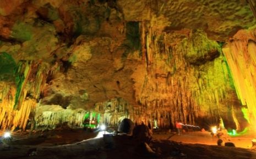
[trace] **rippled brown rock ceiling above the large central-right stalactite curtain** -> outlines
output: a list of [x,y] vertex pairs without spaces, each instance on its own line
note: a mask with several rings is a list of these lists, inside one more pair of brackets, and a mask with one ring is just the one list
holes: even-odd
[[[245,1],[117,1],[127,21],[151,20],[164,15],[166,30],[203,29],[215,40],[225,41],[237,30],[254,25],[253,14]],[[243,25],[243,26],[242,26]]]

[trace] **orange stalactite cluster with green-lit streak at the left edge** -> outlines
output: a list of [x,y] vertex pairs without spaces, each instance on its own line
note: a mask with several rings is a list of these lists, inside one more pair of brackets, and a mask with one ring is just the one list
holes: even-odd
[[1,129],[26,128],[30,112],[36,107],[49,72],[48,67],[41,63],[20,61],[15,73],[15,84],[1,83]]

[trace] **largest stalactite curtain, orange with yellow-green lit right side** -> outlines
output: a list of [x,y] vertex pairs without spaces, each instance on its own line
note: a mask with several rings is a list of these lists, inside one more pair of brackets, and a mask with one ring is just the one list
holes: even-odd
[[[157,120],[160,127],[170,127],[176,120],[195,124],[198,116],[219,116],[232,82],[219,44],[197,32],[188,32],[173,44],[168,33],[159,34],[149,24],[140,26],[147,75],[136,100],[145,107],[140,114],[146,121]],[[209,58],[213,50],[220,55]],[[197,60],[197,56],[199,60],[207,57],[199,65],[190,64],[188,57]]]

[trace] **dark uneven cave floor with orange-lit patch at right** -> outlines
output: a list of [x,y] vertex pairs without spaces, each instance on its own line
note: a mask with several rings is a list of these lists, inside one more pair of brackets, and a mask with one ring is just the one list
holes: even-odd
[[117,135],[113,137],[115,144],[109,147],[103,138],[94,138],[96,135],[83,129],[39,131],[32,135],[17,132],[9,145],[1,144],[0,158],[256,158],[256,150],[250,149],[251,135],[222,137],[224,142],[236,145],[225,147],[216,146],[217,138],[209,132],[177,135],[157,131],[149,143],[154,154],[131,136]]

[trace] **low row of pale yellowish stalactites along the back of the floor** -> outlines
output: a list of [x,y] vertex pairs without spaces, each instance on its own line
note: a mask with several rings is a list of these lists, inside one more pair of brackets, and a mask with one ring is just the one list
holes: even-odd
[[[118,126],[124,118],[130,118],[135,124],[150,123],[154,120],[146,118],[143,114],[143,107],[134,107],[122,98],[113,98],[111,100],[96,103],[93,110],[83,109],[63,109],[58,105],[42,105],[36,108],[35,128],[36,129],[54,129],[57,127],[68,126],[69,128],[83,127],[86,115],[96,115],[98,124],[104,123],[107,126]],[[98,119],[98,115],[100,118]],[[92,119],[92,118],[91,118]]]

